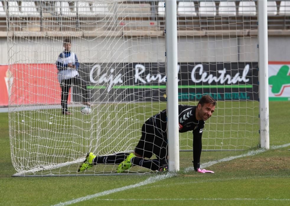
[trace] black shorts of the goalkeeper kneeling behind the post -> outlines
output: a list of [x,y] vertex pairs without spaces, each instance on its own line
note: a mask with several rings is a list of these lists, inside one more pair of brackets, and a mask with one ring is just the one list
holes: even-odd
[[142,126],[142,136],[135,152],[147,158],[155,154],[157,159],[165,160],[167,159],[167,137],[164,140],[162,135],[154,129],[153,124],[147,120]]

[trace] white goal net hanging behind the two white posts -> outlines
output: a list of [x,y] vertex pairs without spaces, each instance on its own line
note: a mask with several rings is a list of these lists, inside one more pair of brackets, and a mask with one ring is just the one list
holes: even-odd
[[[143,123],[166,109],[164,1],[4,1],[4,7],[17,174],[79,175],[87,152],[133,151]],[[180,104],[196,105],[204,94],[217,100],[203,150],[257,148],[257,2],[177,1],[177,35]],[[80,84],[62,110],[57,61],[65,39],[89,91],[89,114],[82,112]],[[180,134],[180,149],[192,150],[192,139],[192,132]],[[116,168],[97,165],[85,174]],[[131,169],[141,172],[149,170]]]

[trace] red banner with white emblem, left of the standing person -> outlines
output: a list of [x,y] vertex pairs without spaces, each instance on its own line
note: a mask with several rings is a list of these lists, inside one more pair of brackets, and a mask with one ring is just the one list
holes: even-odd
[[[10,70],[8,69],[10,67]],[[55,64],[12,64],[0,66],[0,106],[60,104],[61,88]],[[9,95],[10,94],[10,95]]]

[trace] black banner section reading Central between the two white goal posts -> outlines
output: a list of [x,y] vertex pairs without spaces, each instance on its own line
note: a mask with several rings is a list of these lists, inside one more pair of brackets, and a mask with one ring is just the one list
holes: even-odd
[[[180,68],[181,85],[189,85],[179,91],[180,100],[196,100],[204,94],[210,94],[216,100],[258,100],[259,98],[258,62],[181,63]],[[183,69],[187,69],[188,72]]]

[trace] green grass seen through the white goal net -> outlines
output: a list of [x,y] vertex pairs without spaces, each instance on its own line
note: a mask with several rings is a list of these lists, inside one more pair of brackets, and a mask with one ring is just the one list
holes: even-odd
[[[195,104],[195,103],[192,103]],[[166,108],[166,103],[98,104],[92,114],[65,117],[58,109],[10,113],[13,162],[17,170],[74,161],[87,152],[107,155],[132,151],[139,141],[142,124]],[[258,102],[219,101],[216,112],[203,130],[203,149],[250,149],[259,144]],[[100,129],[101,128],[101,129]],[[191,132],[181,133],[180,148],[192,149]],[[78,165],[51,170],[74,172]],[[106,170],[115,170],[106,166]],[[140,168],[138,168],[139,170]],[[97,167],[103,171],[103,167]]]

